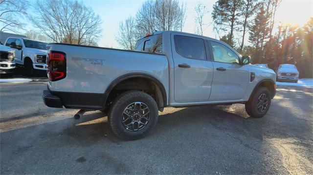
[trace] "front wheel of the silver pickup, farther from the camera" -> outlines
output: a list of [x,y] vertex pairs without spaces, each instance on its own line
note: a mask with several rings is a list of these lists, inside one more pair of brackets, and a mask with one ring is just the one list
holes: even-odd
[[246,113],[254,118],[263,117],[268,112],[270,102],[271,96],[268,88],[261,87],[246,102]]

